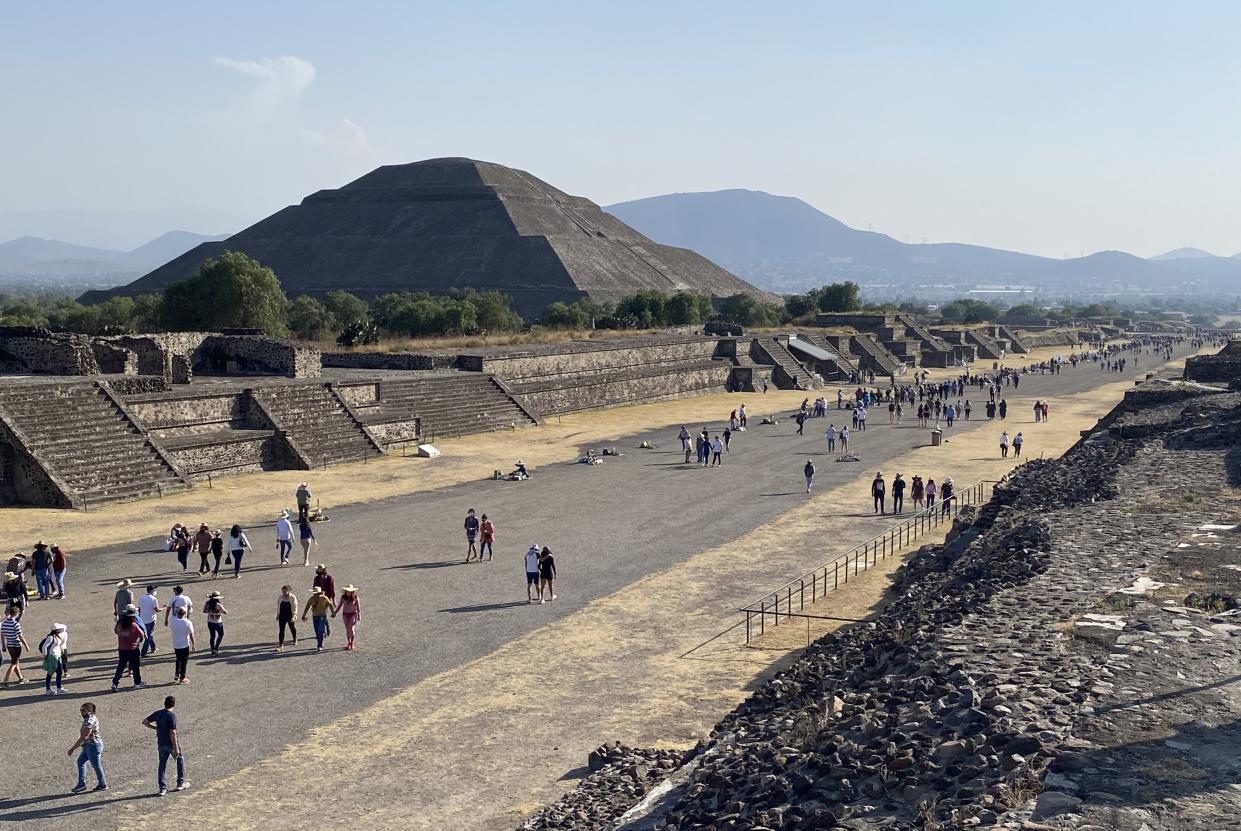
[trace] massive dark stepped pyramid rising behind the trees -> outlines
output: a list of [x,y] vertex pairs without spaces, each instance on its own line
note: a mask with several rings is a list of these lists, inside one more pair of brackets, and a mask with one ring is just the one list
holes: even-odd
[[319,191],[129,285],[83,300],[160,291],[208,257],[241,251],[271,267],[290,298],[344,289],[498,289],[535,315],[555,300],[616,300],[638,289],[710,296],[762,293],[705,257],[660,246],[599,206],[530,174],[472,159],[385,165]]

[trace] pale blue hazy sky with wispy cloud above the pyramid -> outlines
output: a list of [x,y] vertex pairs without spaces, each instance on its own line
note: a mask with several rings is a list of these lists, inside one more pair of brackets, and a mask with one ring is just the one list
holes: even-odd
[[29,2],[0,238],[231,232],[379,164],[750,187],[897,238],[1241,251],[1239,2]]

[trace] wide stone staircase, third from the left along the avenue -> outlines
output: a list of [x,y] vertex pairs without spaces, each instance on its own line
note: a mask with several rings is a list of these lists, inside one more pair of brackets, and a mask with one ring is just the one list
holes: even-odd
[[479,372],[385,381],[380,387],[380,409],[386,416],[416,416],[422,434],[431,437],[539,423],[495,378]]

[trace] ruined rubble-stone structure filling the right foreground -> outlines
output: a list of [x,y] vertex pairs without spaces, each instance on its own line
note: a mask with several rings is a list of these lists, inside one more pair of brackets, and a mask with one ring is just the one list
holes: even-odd
[[1239,447],[1241,391],[1137,387],[684,758],[609,743],[521,831],[1230,825]]

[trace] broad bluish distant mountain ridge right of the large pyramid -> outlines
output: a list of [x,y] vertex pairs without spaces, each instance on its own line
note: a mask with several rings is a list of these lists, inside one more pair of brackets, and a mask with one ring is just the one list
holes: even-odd
[[[656,242],[692,248],[772,291],[800,291],[839,279],[892,290],[947,284],[1028,285],[1046,293],[1235,290],[1234,270],[1180,258],[1153,262],[1124,252],[1052,259],[962,243],[908,244],[850,228],[789,196],[726,190],[670,193],[604,208]],[[1169,252],[1172,253],[1172,252]],[[1231,275],[1231,277],[1230,277]]]

